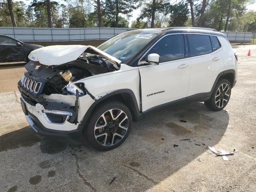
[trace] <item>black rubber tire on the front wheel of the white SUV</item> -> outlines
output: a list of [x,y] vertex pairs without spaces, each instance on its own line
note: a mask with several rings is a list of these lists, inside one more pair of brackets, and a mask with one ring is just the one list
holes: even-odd
[[[109,110],[112,111],[112,115],[110,114]],[[115,115],[115,118],[117,118],[116,120],[113,120],[113,118],[111,118],[111,116],[114,116],[114,115]],[[127,118],[125,117],[125,115],[127,116]],[[102,116],[104,116],[105,120],[102,118]],[[122,118],[124,118],[123,122],[122,122]],[[120,122],[125,124],[125,126],[127,127],[127,130],[120,127],[120,126],[123,126],[122,123]],[[97,124],[99,125],[100,123],[102,123],[100,126],[96,126]],[[104,126],[103,124],[104,125],[107,124],[107,125]],[[98,128],[94,130],[94,127],[102,127],[102,128]],[[120,146],[124,142],[124,140],[126,140],[126,138],[128,137],[131,128],[132,128],[132,114],[129,108],[125,104],[119,101],[107,101],[106,103],[102,103],[99,106],[97,106],[96,109],[92,112],[84,128],[83,136],[86,142],[90,144],[90,146],[92,146],[93,148],[101,151],[107,151]],[[124,133],[124,131],[126,132]],[[102,134],[107,134],[107,136],[103,135],[96,139],[97,136]],[[114,139],[113,139],[113,136],[114,136]],[[120,136],[123,136],[123,138],[121,138]],[[111,141],[111,144],[110,144],[110,141]]]

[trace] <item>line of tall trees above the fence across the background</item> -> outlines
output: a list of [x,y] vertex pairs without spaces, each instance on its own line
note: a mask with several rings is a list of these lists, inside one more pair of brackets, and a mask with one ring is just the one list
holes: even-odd
[[133,10],[140,14],[132,28],[194,26],[224,31],[256,32],[256,12],[246,6],[255,0],[1,0],[0,26],[123,27]]

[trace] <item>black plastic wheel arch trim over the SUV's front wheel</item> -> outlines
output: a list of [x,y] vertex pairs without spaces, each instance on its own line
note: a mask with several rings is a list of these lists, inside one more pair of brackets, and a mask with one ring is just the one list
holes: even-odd
[[[140,111],[138,108],[138,103],[136,100],[136,97],[132,90],[130,89],[121,89],[113,91],[109,94],[106,94],[105,96],[99,98],[96,100],[90,108],[87,110],[86,114],[84,115],[84,118],[82,119],[82,122],[79,124],[78,129],[82,130],[84,126],[86,125],[88,118],[90,117],[90,114],[92,111],[99,106],[102,102],[106,102],[108,100],[118,100],[120,102],[123,102],[130,110],[132,114],[132,120],[137,121],[140,117]],[[81,106],[82,107],[82,106]]]

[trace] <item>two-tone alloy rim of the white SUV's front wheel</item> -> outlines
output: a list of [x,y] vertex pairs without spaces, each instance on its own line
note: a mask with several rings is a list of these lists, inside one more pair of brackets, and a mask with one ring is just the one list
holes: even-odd
[[123,110],[107,110],[96,121],[94,138],[102,146],[116,145],[126,135],[128,125],[128,117]]

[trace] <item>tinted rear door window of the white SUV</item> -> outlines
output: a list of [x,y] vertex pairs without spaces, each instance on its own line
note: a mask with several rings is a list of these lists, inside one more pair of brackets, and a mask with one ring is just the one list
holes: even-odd
[[190,55],[196,56],[212,51],[212,43],[208,35],[188,34]]

